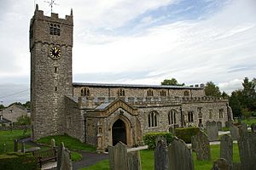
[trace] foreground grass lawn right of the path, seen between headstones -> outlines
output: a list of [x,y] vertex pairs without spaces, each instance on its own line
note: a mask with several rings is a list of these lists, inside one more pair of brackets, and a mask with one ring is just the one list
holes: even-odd
[[[143,170],[154,170],[154,150],[141,150],[141,162]],[[219,156],[219,144],[211,145],[211,161],[197,161],[196,155],[193,152],[193,160],[195,165],[195,170],[210,170],[212,168],[212,162],[218,159]],[[240,162],[239,152],[237,144],[233,144],[233,161]],[[90,167],[84,167],[82,170],[96,170],[96,169],[109,169],[108,160],[100,161],[95,165]]]

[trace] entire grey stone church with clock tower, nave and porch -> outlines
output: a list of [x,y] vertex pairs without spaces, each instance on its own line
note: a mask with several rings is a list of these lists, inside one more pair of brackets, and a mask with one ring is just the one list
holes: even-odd
[[195,87],[73,82],[73,11],[65,19],[36,6],[30,22],[32,138],[64,134],[103,151],[142,144],[149,132],[227,122],[227,99]]

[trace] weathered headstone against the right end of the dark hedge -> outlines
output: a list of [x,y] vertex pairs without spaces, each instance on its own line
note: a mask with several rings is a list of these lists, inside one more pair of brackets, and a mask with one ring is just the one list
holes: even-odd
[[195,150],[197,160],[211,160],[210,142],[206,133],[199,131],[195,136],[192,136],[191,143],[192,149]]

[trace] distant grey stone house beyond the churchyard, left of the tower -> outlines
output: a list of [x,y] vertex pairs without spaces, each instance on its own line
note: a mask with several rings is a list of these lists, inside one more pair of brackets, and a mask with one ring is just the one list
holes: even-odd
[[17,118],[20,116],[28,116],[26,108],[22,105],[11,105],[0,112],[0,114],[2,113],[3,118],[6,118],[11,122],[17,122]]

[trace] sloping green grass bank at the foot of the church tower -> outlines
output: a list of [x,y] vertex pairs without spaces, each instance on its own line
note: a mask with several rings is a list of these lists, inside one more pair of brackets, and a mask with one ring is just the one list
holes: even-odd
[[42,139],[38,139],[38,143],[41,144],[49,144],[50,140],[55,139],[55,144],[60,145],[61,142],[64,143],[65,147],[69,150],[88,150],[88,151],[96,151],[96,147],[90,144],[84,144],[80,142],[79,139],[74,139],[67,134],[65,135],[55,135],[55,136],[48,136]]

